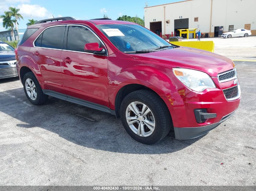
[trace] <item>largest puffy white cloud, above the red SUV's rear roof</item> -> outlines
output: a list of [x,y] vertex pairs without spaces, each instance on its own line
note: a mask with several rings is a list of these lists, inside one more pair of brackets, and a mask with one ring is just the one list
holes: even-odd
[[52,18],[52,14],[40,5],[21,4],[17,7],[20,9],[19,13],[25,17],[32,15],[32,18]]

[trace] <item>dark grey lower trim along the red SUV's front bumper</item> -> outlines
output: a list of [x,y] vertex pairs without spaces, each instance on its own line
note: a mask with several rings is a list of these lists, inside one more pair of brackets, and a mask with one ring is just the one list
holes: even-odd
[[219,124],[233,116],[235,111],[232,113],[222,117],[222,119],[218,123],[214,123],[211,125],[203,126],[203,127],[174,127],[175,138],[180,140],[192,139],[204,135],[205,133],[211,131]]

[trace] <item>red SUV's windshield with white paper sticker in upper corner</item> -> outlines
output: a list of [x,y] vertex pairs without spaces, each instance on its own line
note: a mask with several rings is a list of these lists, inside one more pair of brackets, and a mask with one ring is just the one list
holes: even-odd
[[141,50],[158,51],[161,50],[161,48],[176,47],[140,25],[104,24],[97,25],[96,27],[98,27],[98,29],[105,34],[111,43],[113,43],[122,52],[131,53]]

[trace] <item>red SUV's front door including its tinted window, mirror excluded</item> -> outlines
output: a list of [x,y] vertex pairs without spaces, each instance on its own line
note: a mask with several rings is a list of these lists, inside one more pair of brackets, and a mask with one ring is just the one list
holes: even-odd
[[[66,94],[109,107],[108,56],[85,52],[86,43],[104,46],[87,27],[70,25],[62,51],[62,77]],[[65,45],[64,45],[65,46]],[[105,46],[104,46],[105,48]]]

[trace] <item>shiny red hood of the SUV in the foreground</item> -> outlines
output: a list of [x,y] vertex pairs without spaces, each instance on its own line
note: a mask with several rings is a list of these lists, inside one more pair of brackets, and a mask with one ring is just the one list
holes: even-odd
[[172,68],[179,67],[199,70],[212,77],[217,77],[218,73],[233,69],[232,60],[225,56],[188,47],[134,54],[133,58]]

